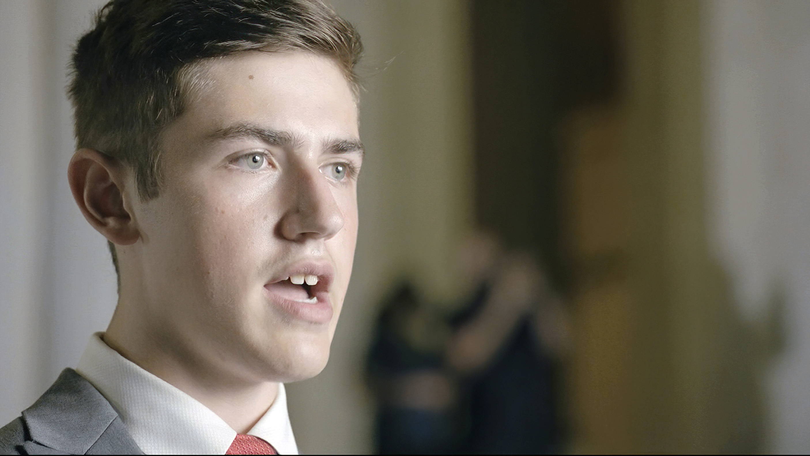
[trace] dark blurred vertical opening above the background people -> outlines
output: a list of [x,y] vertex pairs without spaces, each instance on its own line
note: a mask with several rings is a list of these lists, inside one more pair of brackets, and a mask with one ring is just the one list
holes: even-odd
[[476,222],[567,290],[561,121],[620,92],[614,0],[471,2]]

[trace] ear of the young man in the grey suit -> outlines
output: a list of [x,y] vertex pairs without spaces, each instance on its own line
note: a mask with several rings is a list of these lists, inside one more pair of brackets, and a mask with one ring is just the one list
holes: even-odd
[[125,168],[93,149],[79,149],[67,166],[70,191],[84,218],[117,245],[131,245],[140,233],[126,210],[123,190]]

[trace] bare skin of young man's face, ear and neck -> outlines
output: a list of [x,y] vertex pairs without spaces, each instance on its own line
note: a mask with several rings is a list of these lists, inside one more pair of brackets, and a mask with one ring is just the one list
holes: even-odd
[[[245,432],[279,381],[326,365],[363,152],[356,100],[329,58],[250,51],[205,73],[210,83],[162,132],[157,198],[140,201],[130,169],[90,149],[76,152],[69,180],[117,245],[122,288],[104,342]],[[314,313],[266,288],[300,271],[329,282]]]

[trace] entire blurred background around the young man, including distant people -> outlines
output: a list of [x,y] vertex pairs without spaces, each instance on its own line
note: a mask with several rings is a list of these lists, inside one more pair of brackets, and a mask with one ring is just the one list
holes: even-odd
[[[116,302],[66,182],[102,3],[0,2],[3,424]],[[288,386],[303,452],[498,450],[484,384],[548,411],[535,451],[810,451],[810,2],[330,3],[368,151],[330,363]]]

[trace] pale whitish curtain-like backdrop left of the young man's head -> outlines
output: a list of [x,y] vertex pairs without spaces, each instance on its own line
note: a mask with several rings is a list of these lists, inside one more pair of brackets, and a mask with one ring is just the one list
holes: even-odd
[[[116,302],[104,238],[70,196],[67,62],[99,0],[0,2],[0,422],[19,416]],[[0,425],[2,425],[0,424]]]

